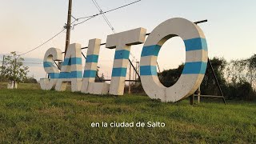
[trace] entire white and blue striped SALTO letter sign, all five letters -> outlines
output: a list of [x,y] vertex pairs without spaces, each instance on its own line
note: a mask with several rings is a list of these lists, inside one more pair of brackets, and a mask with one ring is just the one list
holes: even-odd
[[[186,46],[186,63],[182,75],[174,86],[165,87],[158,79],[157,58],[161,46],[169,39],[179,36]],[[107,36],[106,47],[115,50],[112,78],[110,84],[94,82],[100,39],[91,39],[87,50],[86,66],[82,76],[82,54],[79,44],[71,44],[66,52],[61,72],[53,65],[53,60],[62,60],[59,49],[46,51],[44,68],[50,79],[42,78],[42,90],[66,90],[67,82],[71,82],[72,91],[89,94],[122,95],[125,86],[126,68],[130,56],[130,47],[145,41],[146,29],[138,28]],[[194,94],[202,82],[208,60],[206,38],[202,30],[184,18],[171,18],[158,25],[146,39],[142,48],[140,75],[143,89],[150,98],[161,99],[162,102],[177,102]]]

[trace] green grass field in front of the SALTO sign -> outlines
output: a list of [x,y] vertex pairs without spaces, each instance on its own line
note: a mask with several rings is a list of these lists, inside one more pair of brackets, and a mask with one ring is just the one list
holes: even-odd
[[[0,86],[1,87],[1,86]],[[5,87],[5,86],[2,86]],[[0,90],[0,142],[255,143],[256,103],[202,102],[190,106],[147,96],[96,96],[38,90],[21,84]],[[92,127],[92,122],[164,122],[165,127]]]

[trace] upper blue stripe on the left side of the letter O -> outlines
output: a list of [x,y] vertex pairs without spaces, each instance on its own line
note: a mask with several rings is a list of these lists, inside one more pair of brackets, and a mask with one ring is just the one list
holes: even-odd
[[159,45],[143,46],[142,57],[158,56],[160,49],[161,49],[161,46],[159,46]]

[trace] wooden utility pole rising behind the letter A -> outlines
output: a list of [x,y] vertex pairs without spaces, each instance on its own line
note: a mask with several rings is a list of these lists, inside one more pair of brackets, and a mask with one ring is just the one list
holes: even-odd
[[67,14],[67,23],[66,23],[66,46],[65,46],[65,55],[68,46],[70,45],[70,28],[71,28],[71,13],[72,12],[72,0],[69,0],[69,11]]

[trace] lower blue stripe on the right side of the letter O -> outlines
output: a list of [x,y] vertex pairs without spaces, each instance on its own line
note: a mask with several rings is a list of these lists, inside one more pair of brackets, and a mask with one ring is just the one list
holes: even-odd
[[207,62],[186,62],[182,74],[205,74]]

